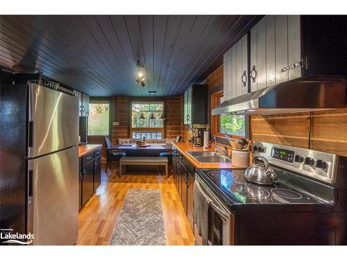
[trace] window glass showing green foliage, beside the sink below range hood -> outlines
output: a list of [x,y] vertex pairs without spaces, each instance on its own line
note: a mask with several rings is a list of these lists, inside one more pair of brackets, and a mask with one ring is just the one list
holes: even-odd
[[245,135],[244,116],[222,114],[220,117],[220,132],[228,132],[230,135]]

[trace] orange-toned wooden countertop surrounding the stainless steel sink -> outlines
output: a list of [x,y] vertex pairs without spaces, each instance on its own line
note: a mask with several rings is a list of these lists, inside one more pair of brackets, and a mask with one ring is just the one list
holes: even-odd
[[202,148],[202,147],[196,147],[193,144],[180,142],[180,143],[172,143],[174,147],[179,150],[179,152],[188,159],[189,162],[191,162],[195,168],[239,168],[236,166],[231,165],[230,162],[219,162],[219,163],[201,163],[196,161],[193,157],[188,155],[187,151],[195,150],[195,151],[201,151],[201,150],[210,150],[214,151],[214,148]]

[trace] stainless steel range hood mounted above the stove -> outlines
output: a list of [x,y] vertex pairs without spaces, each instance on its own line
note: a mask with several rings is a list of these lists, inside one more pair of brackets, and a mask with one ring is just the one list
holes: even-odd
[[297,80],[224,101],[217,114],[285,114],[346,107],[344,80]]

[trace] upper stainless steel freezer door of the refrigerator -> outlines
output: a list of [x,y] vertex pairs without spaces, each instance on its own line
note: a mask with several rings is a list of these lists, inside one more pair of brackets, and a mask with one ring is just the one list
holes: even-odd
[[28,96],[28,157],[78,144],[78,98],[36,84]]

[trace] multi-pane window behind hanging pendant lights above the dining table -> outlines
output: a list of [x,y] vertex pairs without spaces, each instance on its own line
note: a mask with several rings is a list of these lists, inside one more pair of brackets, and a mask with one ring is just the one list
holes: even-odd
[[[131,105],[131,131],[135,139],[162,139],[164,121],[163,102],[133,102]],[[151,119],[153,114],[154,119]]]

